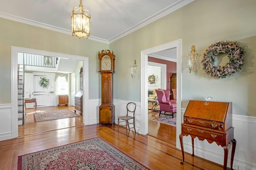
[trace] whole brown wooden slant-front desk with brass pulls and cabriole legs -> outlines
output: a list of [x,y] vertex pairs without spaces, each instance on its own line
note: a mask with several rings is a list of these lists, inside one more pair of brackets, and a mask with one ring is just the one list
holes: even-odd
[[190,100],[184,113],[184,123],[180,134],[180,145],[182,150],[182,161],[184,163],[183,136],[190,135],[192,138],[192,156],[194,156],[194,138],[198,137],[209,143],[216,142],[224,149],[224,165],[227,168],[228,145],[232,142],[231,169],[233,166],[236,149],[234,139],[234,127],[232,127],[232,103],[210,102]]

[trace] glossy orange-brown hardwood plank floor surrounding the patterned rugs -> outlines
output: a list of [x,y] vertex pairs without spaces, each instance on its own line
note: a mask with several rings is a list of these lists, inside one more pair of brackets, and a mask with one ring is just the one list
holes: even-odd
[[[58,107],[55,109],[58,109]],[[157,114],[150,112],[149,117],[157,117]],[[26,125],[19,126],[18,138],[0,141],[1,169],[16,170],[19,155],[67,145],[94,137],[101,137],[151,170],[222,169],[222,166],[219,164],[197,156],[192,157],[188,153],[185,153],[184,164],[180,164],[182,153],[176,149],[172,142],[175,142],[175,138],[172,135],[174,129],[170,125],[149,121],[149,135],[140,135],[130,131],[127,137],[126,130],[119,128],[118,132],[116,125],[82,125],[82,117],[67,118],[65,121],[64,119],[59,119],[38,123],[34,123],[31,117],[32,114],[29,114],[28,111]],[[57,130],[54,130],[54,128]],[[168,133],[164,132],[166,130]]]

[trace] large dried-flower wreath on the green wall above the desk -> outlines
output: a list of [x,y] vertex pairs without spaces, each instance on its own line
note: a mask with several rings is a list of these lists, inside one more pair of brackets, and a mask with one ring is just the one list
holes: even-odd
[[[228,55],[229,62],[225,66],[215,66],[216,56],[221,53]],[[237,41],[220,41],[210,45],[204,52],[201,63],[205,72],[215,78],[226,78],[235,72],[242,71],[245,51]]]

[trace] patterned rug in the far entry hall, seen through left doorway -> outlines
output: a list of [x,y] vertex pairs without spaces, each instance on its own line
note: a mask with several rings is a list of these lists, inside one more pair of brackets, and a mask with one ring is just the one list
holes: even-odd
[[48,120],[56,120],[56,119],[64,119],[69,117],[77,117],[76,113],[68,109],[64,110],[54,110],[54,111],[42,111],[34,113],[34,121],[48,121]]

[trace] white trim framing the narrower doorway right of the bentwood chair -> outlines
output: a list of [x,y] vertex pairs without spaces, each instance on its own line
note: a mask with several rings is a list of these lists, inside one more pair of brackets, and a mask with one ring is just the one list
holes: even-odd
[[158,51],[171,49],[176,47],[176,57],[177,57],[177,122],[176,122],[176,147],[180,149],[179,135],[181,133],[181,39],[166,43],[163,45],[158,45],[150,49],[146,49],[140,52],[141,61],[141,133],[143,135],[148,134],[148,55],[151,53],[156,53]]

